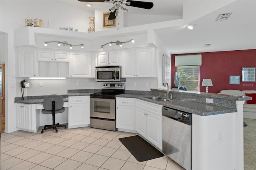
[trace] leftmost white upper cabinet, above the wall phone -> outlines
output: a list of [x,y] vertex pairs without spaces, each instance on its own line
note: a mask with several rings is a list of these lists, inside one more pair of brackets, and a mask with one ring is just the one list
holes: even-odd
[[16,77],[38,77],[36,49],[19,47],[16,49]]

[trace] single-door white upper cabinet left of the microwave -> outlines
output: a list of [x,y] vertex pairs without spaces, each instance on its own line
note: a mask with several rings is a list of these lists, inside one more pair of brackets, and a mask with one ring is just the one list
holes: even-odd
[[95,77],[95,73],[92,74],[93,63],[91,53],[70,53],[70,77]]

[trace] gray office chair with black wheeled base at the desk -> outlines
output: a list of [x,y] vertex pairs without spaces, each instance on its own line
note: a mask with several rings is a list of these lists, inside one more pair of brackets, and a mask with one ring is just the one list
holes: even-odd
[[56,132],[58,132],[57,127],[65,127],[67,125],[60,125],[59,123],[55,124],[55,114],[62,113],[65,111],[63,107],[64,101],[63,97],[60,95],[48,95],[44,97],[44,109],[42,109],[43,114],[52,114],[52,125],[44,125],[44,129],[42,129],[41,133],[44,133],[44,130],[53,128]]

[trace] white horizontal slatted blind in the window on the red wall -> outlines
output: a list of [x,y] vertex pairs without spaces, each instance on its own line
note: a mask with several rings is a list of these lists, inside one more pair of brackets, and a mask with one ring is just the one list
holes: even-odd
[[200,87],[200,66],[179,66],[177,72],[180,72],[180,86],[186,87],[188,91],[199,91]]

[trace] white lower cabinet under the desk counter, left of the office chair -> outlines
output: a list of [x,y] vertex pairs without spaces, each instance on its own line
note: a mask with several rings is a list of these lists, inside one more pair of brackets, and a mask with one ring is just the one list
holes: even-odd
[[35,105],[16,104],[16,127],[21,130],[36,132],[38,121],[36,121]]

